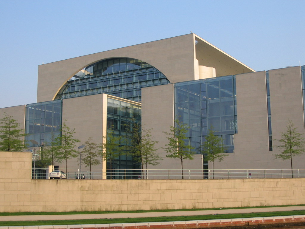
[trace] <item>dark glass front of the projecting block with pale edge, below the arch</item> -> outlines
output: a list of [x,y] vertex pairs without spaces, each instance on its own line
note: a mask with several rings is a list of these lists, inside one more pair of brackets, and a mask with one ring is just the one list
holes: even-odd
[[[107,132],[113,127],[116,135],[128,136],[130,132],[127,131],[127,128],[132,128],[133,122],[141,123],[141,106],[111,98],[107,99]],[[126,139],[126,141],[121,142],[122,146],[129,144],[128,138]],[[120,155],[112,163],[111,168],[115,169],[112,173],[114,179],[121,179],[120,174],[124,175],[124,173],[120,173],[120,169],[128,170],[127,179],[138,179],[138,175],[141,175],[139,170],[134,171],[134,169],[141,169],[141,165],[126,153]],[[107,161],[107,169],[109,168],[110,162]]]

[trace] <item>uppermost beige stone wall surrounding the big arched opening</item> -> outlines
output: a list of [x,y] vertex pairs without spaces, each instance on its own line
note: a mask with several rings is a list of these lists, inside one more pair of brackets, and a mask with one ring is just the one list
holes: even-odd
[[39,65],[37,101],[53,100],[59,89],[78,71],[99,60],[114,57],[145,61],[161,71],[170,82],[193,80],[194,52],[194,34],[188,34]]

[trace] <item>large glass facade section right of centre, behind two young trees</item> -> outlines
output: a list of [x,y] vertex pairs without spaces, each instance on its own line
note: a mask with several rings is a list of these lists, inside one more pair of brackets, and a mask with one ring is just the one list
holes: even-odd
[[189,143],[194,150],[212,127],[215,135],[221,136],[226,151],[233,152],[237,133],[235,76],[179,82],[174,88],[175,116],[188,124]]

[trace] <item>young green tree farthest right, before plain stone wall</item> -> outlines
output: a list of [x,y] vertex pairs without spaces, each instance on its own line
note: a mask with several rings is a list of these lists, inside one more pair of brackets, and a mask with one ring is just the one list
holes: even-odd
[[304,139],[302,133],[296,131],[294,123],[288,120],[285,132],[280,132],[282,138],[274,139],[279,142],[280,145],[274,145],[274,147],[280,149],[279,154],[274,154],[275,158],[281,158],[282,160],[289,160],[291,164],[291,176],[293,178],[292,157],[303,154],[305,152]]

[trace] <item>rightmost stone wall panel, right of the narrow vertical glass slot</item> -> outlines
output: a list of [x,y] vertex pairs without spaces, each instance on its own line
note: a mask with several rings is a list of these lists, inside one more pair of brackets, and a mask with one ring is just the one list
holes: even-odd
[[[296,131],[305,137],[300,66],[269,70],[269,81],[273,139],[282,138],[280,132],[285,132],[289,119],[294,123]],[[279,142],[273,141],[273,144],[279,145]],[[279,153],[279,149],[273,147],[272,153]],[[294,157],[293,168],[304,168],[304,160],[304,154]],[[274,161],[282,168],[290,168],[290,160]]]

